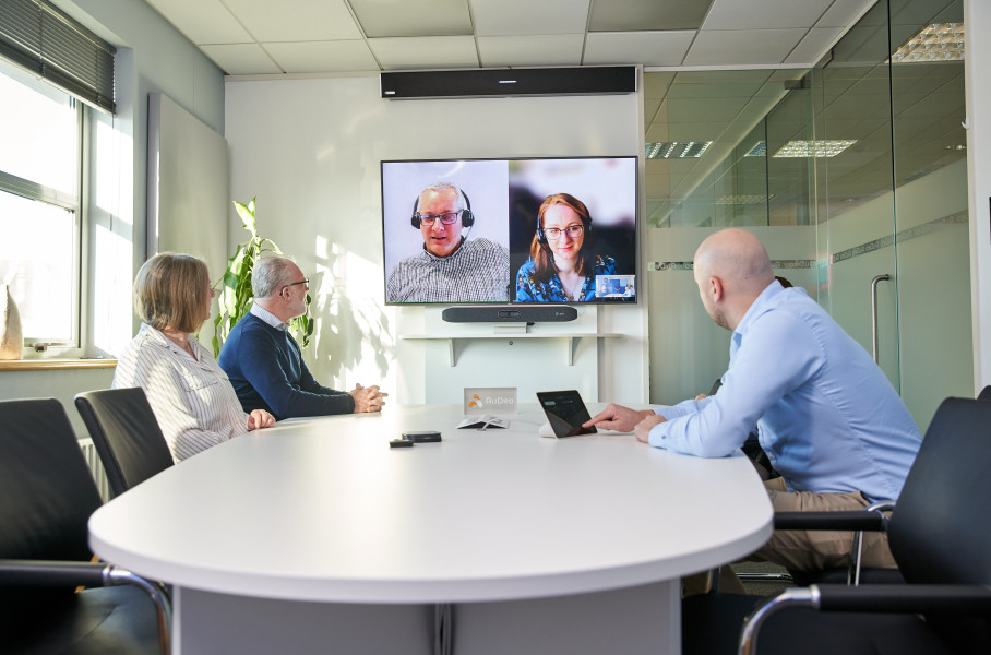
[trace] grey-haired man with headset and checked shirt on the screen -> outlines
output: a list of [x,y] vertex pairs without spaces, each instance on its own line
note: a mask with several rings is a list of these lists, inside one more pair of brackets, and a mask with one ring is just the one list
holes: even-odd
[[410,222],[423,237],[423,249],[393,267],[387,302],[509,300],[509,249],[488,239],[468,240],[475,215],[464,191],[450,182],[430,184],[414,203]]

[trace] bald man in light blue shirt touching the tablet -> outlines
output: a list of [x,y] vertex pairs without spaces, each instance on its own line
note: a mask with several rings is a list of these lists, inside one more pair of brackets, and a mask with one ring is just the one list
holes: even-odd
[[[747,230],[703,241],[694,275],[709,317],[732,331],[718,392],[657,409],[610,404],[586,425],[702,457],[736,453],[756,425],[781,475],[765,483],[776,511],[897,499],[922,436],[870,355],[804,289],[775,279],[767,251]],[[749,559],[802,571],[843,567],[850,543],[850,533],[778,531]],[[863,563],[895,565],[885,535],[864,539]]]

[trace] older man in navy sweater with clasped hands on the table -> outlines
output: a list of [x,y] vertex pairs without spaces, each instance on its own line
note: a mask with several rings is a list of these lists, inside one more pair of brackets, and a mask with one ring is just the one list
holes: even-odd
[[381,410],[387,394],[377,385],[337,391],[318,383],[307,368],[287,324],[307,310],[309,288],[290,258],[273,255],[254,264],[254,303],[231,329],[217,360],[241,406],[266,409],[277,419]]

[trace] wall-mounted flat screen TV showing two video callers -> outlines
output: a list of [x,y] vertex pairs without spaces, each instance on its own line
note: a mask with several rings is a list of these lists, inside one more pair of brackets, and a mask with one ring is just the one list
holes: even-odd
[[635,156],[382,162],[385,302],[636,302]]

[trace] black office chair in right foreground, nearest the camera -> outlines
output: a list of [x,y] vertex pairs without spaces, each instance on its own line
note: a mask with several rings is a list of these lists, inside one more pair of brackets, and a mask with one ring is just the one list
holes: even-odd
[[812,585],[756,607],[754,596],[692,596],[682,605],[683,653],[991,652],[989,471],[991,403],[945,400],[889,519],[823,519],[874,514],[857,527],[886,527],[905,584]]

